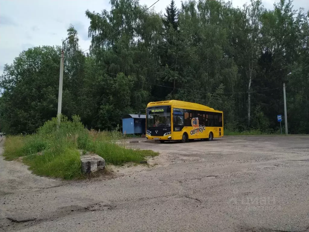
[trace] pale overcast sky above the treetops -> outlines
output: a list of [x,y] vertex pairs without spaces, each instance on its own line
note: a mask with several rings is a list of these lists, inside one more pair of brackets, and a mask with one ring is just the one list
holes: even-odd
[[[156,0],[140,0],[152,5]],[[278,1],[278,0],[276,0]],[[169,0],[160,0],[155,11],[165,11]],[[181,0],[175,0],[180,7]],[[234,6],[242,6],[247,0],[234,0]],[[266,8],[272,8],[275,0],[264,0]],[[294,8],[309,9],[308,0],[295,0]],[[78,31],[80,46],[88,49],[89,20],[85,11],[101,12],[110,9],[109,0],[0,0],[0,75],[3,65],[11,64],[22,50],[40,45],[61,45],[66,29],[73,24]]]

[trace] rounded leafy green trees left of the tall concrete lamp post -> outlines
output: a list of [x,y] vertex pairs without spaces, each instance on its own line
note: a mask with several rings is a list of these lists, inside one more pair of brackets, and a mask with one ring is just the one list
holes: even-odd
[[57,114],[60,48],[23,51],[5,65],[0,78],[3,127],[7,133],[32,133]]

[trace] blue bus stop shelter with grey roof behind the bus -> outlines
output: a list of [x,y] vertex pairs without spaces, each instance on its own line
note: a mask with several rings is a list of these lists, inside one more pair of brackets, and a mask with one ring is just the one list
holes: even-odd
[[122,117],[123,134],[146,134],[146,115],[126,114]]

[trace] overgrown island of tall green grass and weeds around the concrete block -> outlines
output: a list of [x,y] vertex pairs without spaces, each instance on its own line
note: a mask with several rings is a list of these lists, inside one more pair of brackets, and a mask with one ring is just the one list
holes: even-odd
[[53,118],[45,122],[36,134],[8,136],[3,156],[6,160],[23,157],[23,162],[38,175],[74,179],[86,177],[81,172],[79,149],[97,153],[106,163],[113,165],[139,164],[145,157],[159,154],[119,146],[114,143],[122,137],[118,130],[88,131],[79,117],[72,118],[73,121],[69,121],[62,116],[58,129],[57,118]]

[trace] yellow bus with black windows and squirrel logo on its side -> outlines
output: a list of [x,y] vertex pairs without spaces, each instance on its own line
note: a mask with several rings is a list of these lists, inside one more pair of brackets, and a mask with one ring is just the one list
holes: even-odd
[[223,136],[223,112],[186,101],[150,102],[146,108],[146,138],[180,140],[213,140]]

